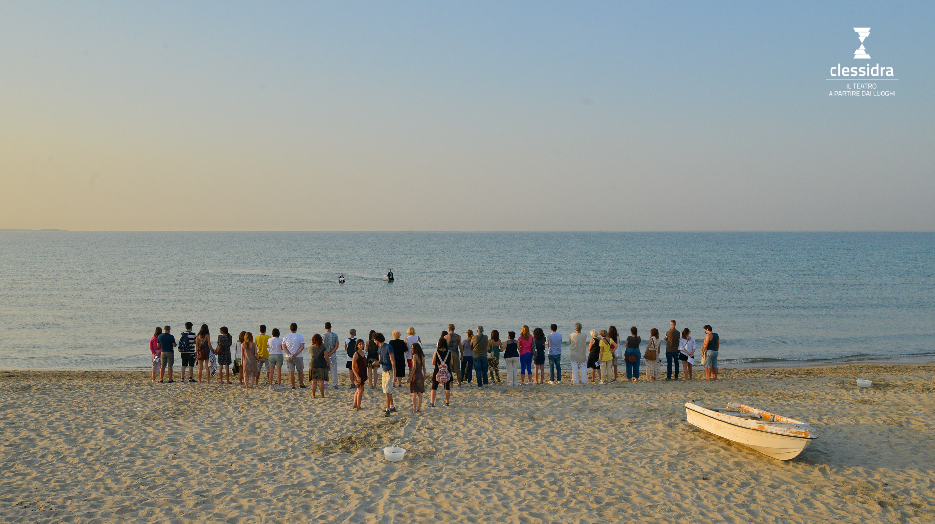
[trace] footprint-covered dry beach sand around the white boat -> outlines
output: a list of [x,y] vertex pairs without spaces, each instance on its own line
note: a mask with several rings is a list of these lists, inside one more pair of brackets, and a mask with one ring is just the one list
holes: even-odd
[[[312,400],[148,372],[0,372],[0,521],[931,523],[933,371],[465,388],[419,414],[397,397],[392,418],[379,389],[353,412],[343,382]],[[689,425],[688,400],[760,406],[820,438],[773,460]],[[405,460],[383,460],[395,443]]]

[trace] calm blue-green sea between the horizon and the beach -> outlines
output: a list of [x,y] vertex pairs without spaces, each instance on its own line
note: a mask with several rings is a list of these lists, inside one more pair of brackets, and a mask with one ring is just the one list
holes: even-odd
[[932,233],[0,232],[0,260],[7,369],[148,368],[153,328],[186,320],[427,343],[677,319],[748,365],[935,355]]

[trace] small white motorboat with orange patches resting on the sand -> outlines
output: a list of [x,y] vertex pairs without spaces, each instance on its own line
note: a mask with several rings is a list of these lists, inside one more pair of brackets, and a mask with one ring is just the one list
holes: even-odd
[[726,438],[773,459],[798,457],[805,446],[818,438],[805,422],[774,415],[749,405],[729,403],[723,409],[708,409],[698,402],[685,403],[688,422],[706,432]]

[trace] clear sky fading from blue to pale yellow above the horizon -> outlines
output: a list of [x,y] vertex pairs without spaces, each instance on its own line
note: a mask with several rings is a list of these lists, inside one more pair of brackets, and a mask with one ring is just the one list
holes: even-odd
[[[933,230],[933,31],[932,2],[5,2],[0,228]],[[867,62],[896,96],[828,96]]]

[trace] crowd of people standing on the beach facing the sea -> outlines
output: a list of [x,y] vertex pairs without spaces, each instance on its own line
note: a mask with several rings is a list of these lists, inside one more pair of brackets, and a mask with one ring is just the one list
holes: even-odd
[[[590,336],[582,333],[581,322],[575,323],[574,333],[568,335],[571,361],[571,379],[574,384],[587,384],[589,381],[607,384],[617,381],[618,360],[626,364],[626,378],[640,379],[640,363],[646,361],[646,377],[656,380],[660,375],[663,352],[665,353],[667,376],[678,380],[680,363],[684,367],[685,380],[693,378],[693,365],[698,344],[688,328],[679,331],[676,321],[669,321],[666,332],[665,350],[659,338],[659,331],[650,330],[645,351],[641,352],[642,339],[636,326],[630,328],[630,335],[621,340],[617,328],[610,326],[606,330],[591,330]],[[293,322],[290,333],[281,336],[274,328],[272,335],[266,334],[266,325],[260,326],[260,334],[240,332],[234,340],[226,326],[221,327],[217,343],[211,344],[210,330],[202,324],[198,333],[192,331],[193,323],[185,323],[185,331],[180,333],[178,341],[171,334],[170,326],[157,327],[150,340],[151,380],[155,382],[156,373],[160,383],[174,383],[173,368],[175,349],[178,348],[181,360],[180,381],[185,382],[185,370],[188,369],[188,382],[194,383],[194,368],[198,368],[198,380],[202,376],[210,383],[212,375],[218,375],[221,384],[233,385],[231,367],[237,374],[237,380],[245,389],[256,388],[259,377],[266,370],[266,383],[269,389],[282,389],[282,366],[289,372],[289,383],[295,389],[306,389],[304,380],[306,350],[305,337],[296,333],[298,326]],[[435,407],[436,391],[439,386],[445,390],[445,406],[451,402],[451,388],[457,382],[459,388],[464,383],[472,385],[476,379],[477,387],[483,389],[490,382],[501,383],[500,359],[505,361],[506,381],[508,386],[526,386],[538,384],[561,384],[562,382],[562,335],[558,326],[550,326],[551,333],[542,328],[530,331],[523,326],[517,337],[515,332],[508,332],[505,340],[500,333],[492,330],[488,337],[483,326],[477,331],[467,330],[464,338],[455,333],[454,325],[442,331],[432,356],[431,375],[432,393],[429,406]],[[717,379],[717,357],[720,338],[712,332],[710,325],[704,326],[705,338],[701,345],[701,358],[705,366],[705,375]],[[409,386],[412,395],[412,410],[422,409],[422,395],[425,391],[426,359],[422,338],[410,327],[406,338],[395,330],[392,340],[386,341],[382,333],[371,330],[367,340],[357,338],[356,330],[349,332],[343,348],[347,355],[345,367],[351,376],[353,409],[361,409],[364,387],[369,383],[371,389],[377,387],[378,373],[381,386],[386,395],[384,416],[396,411],[393,403],[393,389]],[[324,323],[324,334],[316,333],[311,338],[309,352],[309,382],[312,397],[324,391],[330,380],[333,389],[338,389],[338,368],[342,357],[338,356],[340,341],[338,334],[331,331],[331,322]],[[545,380],[545,361],[549,361],[549,381]],[[408,370],[408,374],[407,374]],[[588,371],[590,370],[590,371]],[[166,373],[167,371],[167,373]],[[611,375],[612,374],[612,375]],[[225,377],[226,375],[226,377]],[[274,380],[275,375],[275,380]],[[590,375],[590,376],[589,376]],[[167,380],[166,380],[167,378]],[[528,382],[527,382],[528,380]],[[275,385],[274,385],[275,383]]]

